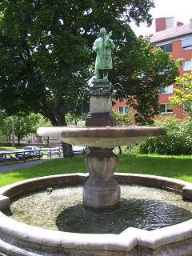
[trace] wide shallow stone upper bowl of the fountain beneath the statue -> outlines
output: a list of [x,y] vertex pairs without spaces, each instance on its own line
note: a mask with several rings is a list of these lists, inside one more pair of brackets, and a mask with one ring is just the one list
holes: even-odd
[[57,138],[72,145],[114,148],[142,142],[150,136],[165,135],[159,126],[40,127],[38,136]]

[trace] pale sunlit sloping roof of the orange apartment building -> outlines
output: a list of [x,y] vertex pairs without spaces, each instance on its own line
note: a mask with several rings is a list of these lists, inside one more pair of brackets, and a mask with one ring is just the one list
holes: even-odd
[[192,30],[190,29],[190,23],[154,33],[150,38],[150,42],[161,42],[170,38],[180,37],[184,34],[192,34]]

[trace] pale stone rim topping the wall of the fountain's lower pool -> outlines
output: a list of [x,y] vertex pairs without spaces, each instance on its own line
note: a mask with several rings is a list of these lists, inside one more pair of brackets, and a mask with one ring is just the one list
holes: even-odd
[[[165,178],[154,175],[145,174],[118,174],[115,173],[114,177],[119,181],[131,183],[139,183],[146,185],[150,182],[154,187],[172,190],[175,193],[186,194],[192,191],[192,184],[174,178]],[[29,184],[36,184],[39,187],[44,187],[45,182],[51,182],[63,179],[64,183],[69,182],[70,178],[74,181],[85,182],[88,174],[60,174],[40,178],[31,178],[22,182],[16,182],[0,188],[0,210],[3,203],[9,204],[11,196],[17,194],[17,190],[25,188],[29,190],[33,186]],[[166,185],[165,186],[165,182]],[[141,184],[142,183],[142,184]],[[188,191],[188,192],[187,192]],[[28,191],[29,192],[29,191]],[[10,198],[9,198],[10,197]],[[174,226],[164,227],[158,230],[140,230],[137,228],[129,227],[121,234],[78,234],[70,232],[62,232],[58,230],[46,230],[36,226],[30,226],[22,222],[14,221],[5,214],[0,212],[0,232],[8,234],[17,239],[22,239],[25,242],[37,243],[39,246],[62,246],[67,249],[79,250],[131,250],[136,245],[156,249],[159,246],[165,246],[170,243],[180,242],[187,238],[192,238],[192,220],[179,223]],[[14,228],[13,228],[14,227]],[[1,241],[0,241],[1,246]]]

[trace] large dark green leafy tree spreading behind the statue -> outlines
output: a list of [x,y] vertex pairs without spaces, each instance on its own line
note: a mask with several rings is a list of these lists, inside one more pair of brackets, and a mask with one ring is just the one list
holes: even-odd
[[[152,0],[3,0],[0,106],[10,115],[34,111],[49,118],[53,126],[66,126],[67,113],[81,114],[79,90],[93,75],[95,54],[91,48],[99,28],[105,26],[113,31],[116,45],[110,81],[122,83],[130,104],[148,118],[157,100],[154,97],[147,102],[157,94],[156,81],[164,86],[174,79],[176,70],[165,53],[152,53],[149,40],[136,38],[130,29],[132,20],[150,26],[152,7]],[[64,155],[70,154],[68,146]]]

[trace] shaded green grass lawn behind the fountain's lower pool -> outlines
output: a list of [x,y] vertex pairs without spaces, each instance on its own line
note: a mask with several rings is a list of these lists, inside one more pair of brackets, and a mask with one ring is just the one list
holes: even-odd
[[[192,156],[118,154],[118,158],[116,172],[152,174],[192,182]],[[39,163],[36,166],[2,173],[0,174],[0,186],[5,186],[26,178],[46,175],[87,173],[84,159],[84,156],[56,158]]]

